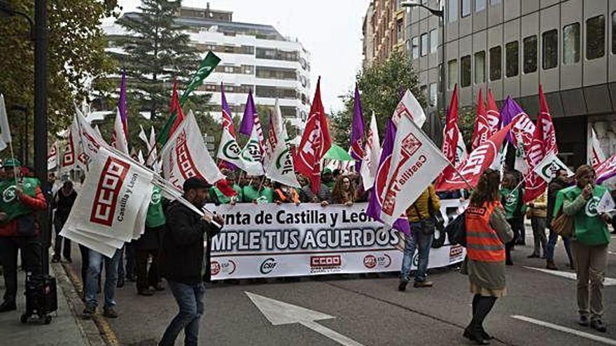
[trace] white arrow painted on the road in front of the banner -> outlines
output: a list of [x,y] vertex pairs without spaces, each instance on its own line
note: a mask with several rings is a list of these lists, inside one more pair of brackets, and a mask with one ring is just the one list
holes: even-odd
[[351,340],[350,338],[347,338],[346,336],[343,336],[342,334],[332,331],[331,329],[315,322],[320,319],[335,318],[333,316],[325,315],[323,312],[308,310],[307,308],[302,308],[301,306],[284,303],[283,301],[276,301],[275,299],[259,296],[258,294],[253,294],[251,292],[244,291],[244,293],[251,299],[259,311],[265,315],[265,318],[267,318],[269,323],[274,326],[298,323],[306,328],[316,331],[326,338],[334,340],[340,345],[363,346],[355,340]]

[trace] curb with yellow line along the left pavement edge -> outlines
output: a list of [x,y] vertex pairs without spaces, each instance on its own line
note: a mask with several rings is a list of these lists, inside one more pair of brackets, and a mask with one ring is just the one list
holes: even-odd
[[59,286],[62,287],[64,296],[66,296],[66,301],[69,302],[69,308],[87,345],[120,346],[116,333],[113,332],[111,325],[102,315],[96,313],[92,316],[92,319],[81,317],[81,311],[85,307],[80,298],[83,295],[83,283],[70,264],[51,264],[51,267]]

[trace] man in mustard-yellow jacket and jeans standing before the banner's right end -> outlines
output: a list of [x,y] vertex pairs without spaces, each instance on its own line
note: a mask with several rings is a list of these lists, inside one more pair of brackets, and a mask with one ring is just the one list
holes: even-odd
[[411,228],[410,236],[406,237],[400,284],[398,291],[405,291],[410,280],[411,266],[415,249],[419,252],[417,272],[413,287],[432,287],[432,282],[426,280],[430,247],[434,240],[434,219],[432,215],[440,212],[440,200],[434,192],[433,185],[421,193],[419,198],[407,209],[407,217]]

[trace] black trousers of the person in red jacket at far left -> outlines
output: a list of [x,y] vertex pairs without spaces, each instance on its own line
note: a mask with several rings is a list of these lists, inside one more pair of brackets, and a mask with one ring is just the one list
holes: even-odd
[[31,275],[43,274],[43,247],[38,236],[0,237],[0,262],[4,266],[4,301],[15,301],[17,296],[17,256],[21,250],[22,264]]

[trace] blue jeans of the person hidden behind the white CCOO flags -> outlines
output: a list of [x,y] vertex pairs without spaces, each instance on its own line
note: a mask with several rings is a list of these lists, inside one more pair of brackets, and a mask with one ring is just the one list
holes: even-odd
[[116,294],[116,284],[118,283],[118,261],[120,261],[120,250],[116,250],[111,259],[92,249],[88,251],[87,277],[85,279],[85,303],[98,305],[97,290],[99,286],[99,275],[101,275],[102,262],[105,261],[105,307],[109,308],[116,305],[113,296]]

